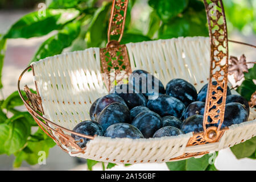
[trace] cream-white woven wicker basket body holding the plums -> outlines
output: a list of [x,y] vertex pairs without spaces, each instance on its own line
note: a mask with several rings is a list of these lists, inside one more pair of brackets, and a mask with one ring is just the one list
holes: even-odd
[[[172,78],[184,78],[199,91],[208,82],[209,38],[195,36],[129,43],[126,48],[132,71],[143,69],[158,73],[164,85]],[[101,76],[100,48],[47,57],[32,63],[31,67],[40,99],[34,97],[42,101],[43,117],[20,96],[39,126],[72,156],[112,163],[162,163],[200,157],[256,135],[256,112],[251,109],[249,121],[230,126],[218,142],[187,146],[193,133],[149,139],[95,137],[80,151],[67,144],[72,140],[70,131],[77,123],[90,119],[92,102],[108,93]],[[238,94],[235,90],[232,92]],[[56,128],[61,128],[63,135]]]

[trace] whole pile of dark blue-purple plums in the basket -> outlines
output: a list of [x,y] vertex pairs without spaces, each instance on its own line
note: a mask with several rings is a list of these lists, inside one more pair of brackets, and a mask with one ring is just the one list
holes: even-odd
[[[164,89],[162,82],[146,71],[135,70],[133,74],[138,74],[139,79],[129,77],[129,84],[116,85],[108,95],[94,101],[89,112],[92,120],[80,122],[73,131],[133,139],[203,131],[208,84],[197,93],[192,84],[175,78]],[[217,90],[223,92],[222,88]],[[222,98],[217,103],[221,101]],[[245,122],[248,117],[248,102],[242,96],[232,95],[228,88],[221,128]],[[85,147],[89,140],[74,134],[72,137],[80,147]]]

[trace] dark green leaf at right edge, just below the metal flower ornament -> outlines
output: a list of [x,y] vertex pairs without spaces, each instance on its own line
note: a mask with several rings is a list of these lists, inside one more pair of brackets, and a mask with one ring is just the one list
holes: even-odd
[[253,80],[245,78],[242,84],[238,86],[237,92],[241,94],[247,101],[250,101],[251,94],[253,94],[256,90],[256,85],[254,84]]

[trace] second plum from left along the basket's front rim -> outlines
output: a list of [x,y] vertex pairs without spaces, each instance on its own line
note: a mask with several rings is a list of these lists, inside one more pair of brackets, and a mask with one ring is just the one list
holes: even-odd
[[111,138],[144,138],[137,127],[128,123],[115,123],[110,125],[106,129],[104,136]]

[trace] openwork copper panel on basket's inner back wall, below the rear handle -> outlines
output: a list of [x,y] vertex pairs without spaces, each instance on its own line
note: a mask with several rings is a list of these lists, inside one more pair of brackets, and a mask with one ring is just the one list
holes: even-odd
[[129,77],[131,65],[125,45],[100,49],[101,72],[107,89]]

